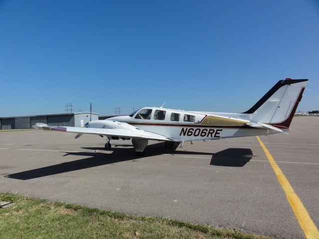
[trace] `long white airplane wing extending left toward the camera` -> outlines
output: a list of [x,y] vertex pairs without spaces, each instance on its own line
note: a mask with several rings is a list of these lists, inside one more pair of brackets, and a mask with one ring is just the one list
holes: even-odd
[[86,127],[66,127],[66,126],[50,126],[45,123],[36,123],[33,125],[34,128],[49,130],[49,131],[62,131],[62,132],[72,132],[72,133],[87,133],[87,134],[98,134],[105,136],[117,136],[126,138],[140,138],[140,139],[150,139],[159,141],[173,141],[170,138],[162,136],[157,133],[148,132],[142,129],[129,130],[123,128],[86,128]]

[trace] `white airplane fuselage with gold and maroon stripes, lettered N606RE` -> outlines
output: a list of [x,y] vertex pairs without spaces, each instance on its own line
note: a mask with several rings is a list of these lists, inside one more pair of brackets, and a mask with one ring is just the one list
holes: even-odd
[[[150,116],[148,117],[149,119],[139,119],[139,112],[143,110],[152,111]],[[164,119],[156,119],[155,114],[157,111],[164,112]],[[179,120],[174,120],[174,118],[171,118],[171,114],[175,114],[174,116],[177,115],[177,117],[179,117]],[[138,110],[134,115],[131,116],[118,116],[104,120],[91,121],[90,127],[112,128],[112,126],[110,125],[110,121],[116,121],[114,123],[116,123],[117,125],[117,122],[123,122],[123,127],[131,128],[132,126],[134,126],[134,128],[140,128],[145,131],[157,133],[162,136],[168,137],[173,141],[193,141],[206,139],[214,140],[230,137],[268,135],[279,133],[275,130],[252,128],[245,124],[246,122],[249,122],[248,119],[239,120],[233,118],[238,118],[238,115],[241,114],[207,114],[156,107],[145,107]],[[191,116],[192,119],[186,119],[188,116]],[[184,121],[184,119],[186,121]],[[127,125],[126,123],[129,125]]]

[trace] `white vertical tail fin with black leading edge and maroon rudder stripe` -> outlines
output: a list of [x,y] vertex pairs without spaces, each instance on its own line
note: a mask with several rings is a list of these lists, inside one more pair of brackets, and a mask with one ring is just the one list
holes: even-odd
[[307,85],[307,79],[279,81],[252,108],[253,122],[267,123],[277,128],[289,128]]

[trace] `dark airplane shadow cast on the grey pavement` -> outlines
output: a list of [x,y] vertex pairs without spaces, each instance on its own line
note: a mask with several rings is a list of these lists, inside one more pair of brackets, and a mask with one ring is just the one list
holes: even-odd
[[[177,145],[178,146],[178,145]],[[65,152],[63,156],[79,155],[86,158],[78,159],[69,162],[63,162],[55,165],[50,165],[42,168],[31,169],[23,172],[13,173],[5,175],[7,178],[14,178],[19,180],[28,180],[34,178],[40,178],[50,176],[54,174],[66,173],[75,170],[81,170],[86,168],[92,168],[107,164],[113,164],[118,162],[124,162],[129,160],[138,160],[144,157],[156,156],[161,154],[187,154],[187,155],[211,155],[210,165],[215,166],[228,166],[228,167],[243,167],[253,157],[251,149],[248,148],[228,148],[217,153],[205,153],[195,151],[176,151],[177,148],[165,148],[163,143],[151,144],[147,147],[145,156],[136,156],[134,148],[112,148],[113,153],[106,153],[104,148],[99,147],[83,147],[84,149],[94,149],[92,152]]]

